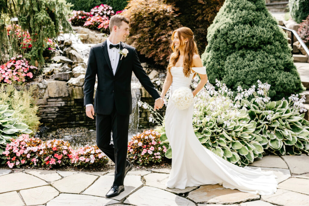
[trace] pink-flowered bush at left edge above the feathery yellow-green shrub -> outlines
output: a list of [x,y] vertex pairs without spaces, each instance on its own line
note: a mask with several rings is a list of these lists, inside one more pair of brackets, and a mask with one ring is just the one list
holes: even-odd
[[0,83],[25,82],[33,77],[36,69],[38,68],[29,65],[23,56],[12,57],[10,61],[0,65]]

